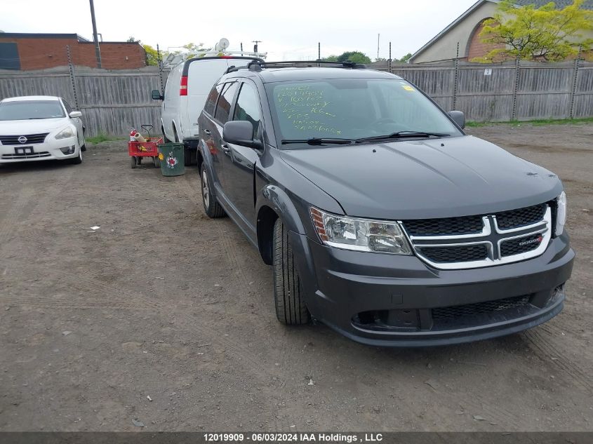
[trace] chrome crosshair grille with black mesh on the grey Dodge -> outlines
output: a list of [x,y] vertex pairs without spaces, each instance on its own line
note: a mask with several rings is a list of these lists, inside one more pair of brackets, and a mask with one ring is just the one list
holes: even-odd
[[416,255],[434,268],[474,269],[541,255],[552,236],[552,208],[543,203],[491,215],[407,220],[401,226]]

